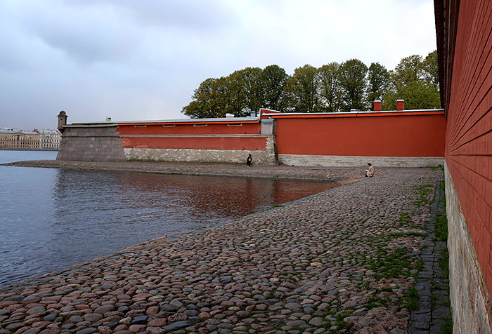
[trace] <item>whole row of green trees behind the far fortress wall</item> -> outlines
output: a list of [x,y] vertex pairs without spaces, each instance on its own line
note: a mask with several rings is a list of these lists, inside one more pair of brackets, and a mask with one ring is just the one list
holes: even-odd
[[425,58],[410,55],[392,70],[379,62],[367,67],[361,60],[330,62],[319,68],[304,65],[289,75],[278,65],[246,67],[228,76],[209,78],[195,89],[183,107],[191,118],[249,116],[259,108],[280,112],[349,112],[372,110],[382,100],[383,110],[440,107],[437,52]]

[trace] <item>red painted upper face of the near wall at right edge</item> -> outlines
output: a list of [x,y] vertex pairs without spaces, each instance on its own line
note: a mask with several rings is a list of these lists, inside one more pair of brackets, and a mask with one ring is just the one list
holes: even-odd
[[492,1],[460,1],[446,164],[492,292]]

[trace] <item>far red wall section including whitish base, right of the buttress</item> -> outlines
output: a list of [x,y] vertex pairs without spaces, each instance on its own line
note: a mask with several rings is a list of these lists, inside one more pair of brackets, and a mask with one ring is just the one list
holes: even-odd
[[356,161],[379,166],[444,163],[446,119],[442,110],[271,117],[276,120],[280,163],[312,165],[316,162],[321,166],[354,166]]

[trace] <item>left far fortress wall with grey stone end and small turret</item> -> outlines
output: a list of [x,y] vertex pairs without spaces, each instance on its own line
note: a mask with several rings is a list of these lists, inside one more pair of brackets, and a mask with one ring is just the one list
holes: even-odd
[[186,161],[276,165],[273,121],[256,117],[66,124],[57,159]]

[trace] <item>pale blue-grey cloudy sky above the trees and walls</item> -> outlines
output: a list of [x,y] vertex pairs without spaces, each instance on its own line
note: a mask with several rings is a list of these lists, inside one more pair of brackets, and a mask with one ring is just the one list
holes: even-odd
[[0,0],[0,127],[186,118],[209,77],[436,48],[432,0]]

